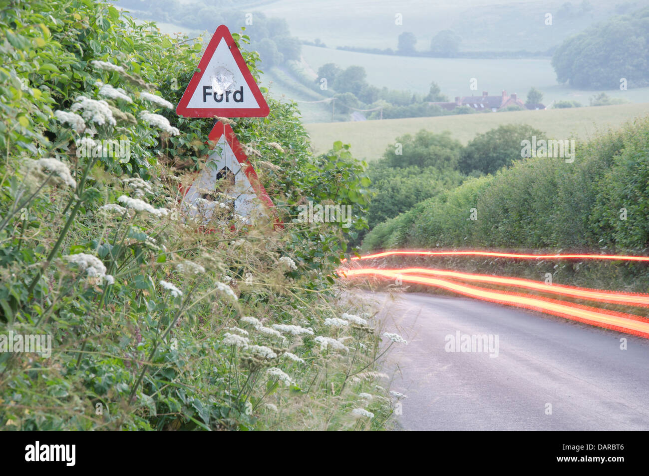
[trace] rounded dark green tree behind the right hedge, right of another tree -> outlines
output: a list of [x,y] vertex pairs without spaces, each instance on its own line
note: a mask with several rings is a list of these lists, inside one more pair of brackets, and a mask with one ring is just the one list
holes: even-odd
[[496,170],[509,166],[514,160],[520,160],[520,142],[522,140],[537,140],[543,138],[543,132],[526,124],[501,125],[484,134],[478,134],[463,149],[458,168],[465,174],[478,171],[494,173]]

